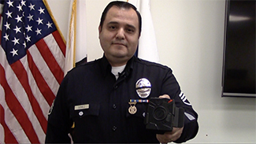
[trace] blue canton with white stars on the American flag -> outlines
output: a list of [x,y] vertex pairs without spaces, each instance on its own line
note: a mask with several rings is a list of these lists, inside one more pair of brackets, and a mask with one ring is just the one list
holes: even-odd
[[1,4],[1,45],[11,65],[24,57],[35,42],[57,28],[41,0],[5,0]]

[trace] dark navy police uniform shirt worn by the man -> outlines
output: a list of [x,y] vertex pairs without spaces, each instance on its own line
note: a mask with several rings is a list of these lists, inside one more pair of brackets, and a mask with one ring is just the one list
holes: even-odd
[[[150,82],[150,95],[140,98],[135,83]],[[168,94],[184,108],[184,131],[176,142],[186,142],[198,132],[198,115],[180,90],[170,68],[132,57],[116,79],[106,57],[73,68],[63,79],[48,117],[46,143],[159,143],[144,124],[147,103],[128,109],[130,99],[149,99]],[[74,124],[74,125],[73,125]],[[73,125],[73,128],[71,128]]]

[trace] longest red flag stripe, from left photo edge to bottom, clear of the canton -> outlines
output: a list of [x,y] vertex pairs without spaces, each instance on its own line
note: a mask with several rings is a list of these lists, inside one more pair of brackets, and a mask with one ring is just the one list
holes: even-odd
[[24,133],[28,136],[28,139],[32,143],[39,143],[39,138],[37,137],[35,130],[33,129],[32,123],[28,119],[27,113],[24,111],[23,107],[18,102],[17,98],[13,94],[13,91],[9,87],[6,81],[6,72],[4,68],[2,68],[2,65],[0,65],[0,73],[1,73],[1,79],[0,83],[2,87],[5,90],[5,98],[6,98],[6,104],[9,106],[9,109],[12,111],[13,115],[18,120],[20,126],[22,127]]

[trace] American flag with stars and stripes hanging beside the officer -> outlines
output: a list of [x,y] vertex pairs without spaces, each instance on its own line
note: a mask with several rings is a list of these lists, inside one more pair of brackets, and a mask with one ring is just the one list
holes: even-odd
[[0,143],[44,143],[65,42],[42,0],[0,1]]

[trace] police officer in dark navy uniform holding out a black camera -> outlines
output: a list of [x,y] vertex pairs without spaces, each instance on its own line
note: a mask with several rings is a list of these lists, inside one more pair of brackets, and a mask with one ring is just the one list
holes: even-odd
[[[198,115],[170,68],[135,57],[141,16],[128,2],[110,2],[98,27],[102,58],[73,68],[50,109],[46,143],[186,142]],[[144,123],[150,98],[170,98],[184,109],[184,127],[156,134]],[[71,136],[70,136],[70,135]]]

